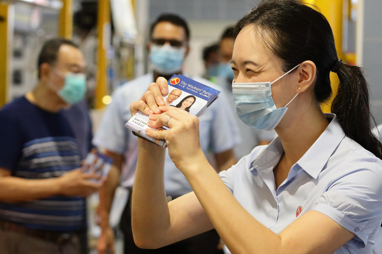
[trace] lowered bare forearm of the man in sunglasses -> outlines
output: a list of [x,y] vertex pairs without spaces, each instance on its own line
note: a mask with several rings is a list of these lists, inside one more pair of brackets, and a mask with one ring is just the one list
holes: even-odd
[[101,228],[108,227],[109,214],[112,206],[114,192],[118,186],[120,171],[112,166],[103,187],[99,190],[99,216]]

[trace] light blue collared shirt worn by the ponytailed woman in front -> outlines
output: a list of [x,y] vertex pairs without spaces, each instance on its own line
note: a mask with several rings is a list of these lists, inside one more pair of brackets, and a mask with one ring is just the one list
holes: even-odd
[[329,126],[277,189],[273,169],[284,152],[278,137],[219,175],[236,200],[273,232],[316,210],[356,235],[335,254],[371,253],[382,221],[382,161],[345,136],[334,114],[325,116]]

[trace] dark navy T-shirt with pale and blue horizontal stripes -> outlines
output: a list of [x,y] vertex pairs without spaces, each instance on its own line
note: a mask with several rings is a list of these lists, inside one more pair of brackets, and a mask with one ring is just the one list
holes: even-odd
[[[65,110],[44,111],[25,97],[5,105],[0,110],[0,167],[15,177],[47,179],[81,166],[81,148],[70,117]],[[81,230],[86,227],[86,202],[81,196],[3,202],[0,219],[41,230]]]

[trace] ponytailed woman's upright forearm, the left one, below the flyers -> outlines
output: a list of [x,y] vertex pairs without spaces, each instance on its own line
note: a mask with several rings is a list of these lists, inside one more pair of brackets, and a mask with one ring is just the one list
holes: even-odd
[[146,243],[155,245],[170,227],[163,179],[166,150],[143,139],[138,139],[138,147],[131,225],[137,246],[151,248]]

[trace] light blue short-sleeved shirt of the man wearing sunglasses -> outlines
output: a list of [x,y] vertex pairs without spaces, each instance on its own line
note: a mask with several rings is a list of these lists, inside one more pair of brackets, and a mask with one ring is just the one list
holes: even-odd
[[[208,80],[199,77],[191,78],[219,90]],[[137,137],[125,128],[125,123],[131,118],[131,102],[137,101],[152,82],[153,74],[147,73],[116,89],[92,141],[98,147],[125,155],[126,163],[121,181],[122,185],[128,188],[133,186],[138,148]],[[235,112],[223,91],[199,117],[199,135],[205,154],[225,152],[240,143],[241,137],[235,120]],[[175,167],[168,153],[165,157],[164,172],[167,195],[181,196],[192,191],[187,179]]]

